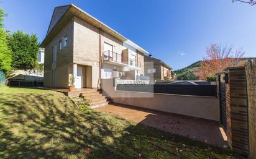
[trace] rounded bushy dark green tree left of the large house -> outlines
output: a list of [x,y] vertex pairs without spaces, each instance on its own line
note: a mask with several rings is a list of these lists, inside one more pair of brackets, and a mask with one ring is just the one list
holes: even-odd
[[39,52],[39,42],[35,34],[14,32],[8,38],[8,45],[12,51],[12,67],[25,70],[35,68]]

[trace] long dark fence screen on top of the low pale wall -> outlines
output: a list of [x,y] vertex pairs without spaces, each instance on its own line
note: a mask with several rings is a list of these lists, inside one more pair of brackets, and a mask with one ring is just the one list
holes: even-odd
[[117,90],[217,97],[216,85],[124,85],[124,84],[118,84]]

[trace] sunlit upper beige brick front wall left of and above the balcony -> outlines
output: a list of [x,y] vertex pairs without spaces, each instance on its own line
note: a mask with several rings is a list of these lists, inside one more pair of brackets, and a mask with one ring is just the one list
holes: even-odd
[[[74,17],[74,59],[73,62],[87,66],[99,66],[99,29],[84,20]],[[101,54],[104,41],[113,45],[113,51],[122,53],[122,41],[101,32]]]

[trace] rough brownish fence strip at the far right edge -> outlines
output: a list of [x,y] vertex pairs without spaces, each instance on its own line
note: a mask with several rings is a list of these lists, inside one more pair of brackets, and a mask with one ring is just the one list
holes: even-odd
[[256,59],[245,63],[249,119],[249,158],[256,158]]

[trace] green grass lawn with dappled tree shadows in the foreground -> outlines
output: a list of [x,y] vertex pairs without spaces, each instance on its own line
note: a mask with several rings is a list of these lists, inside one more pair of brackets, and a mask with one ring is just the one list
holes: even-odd
[[[91,152],[87,152],[91,148]],[[0,87],[0,158],[236,158],[50,90]]]

